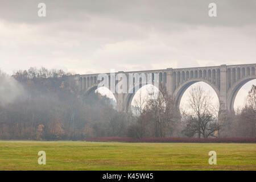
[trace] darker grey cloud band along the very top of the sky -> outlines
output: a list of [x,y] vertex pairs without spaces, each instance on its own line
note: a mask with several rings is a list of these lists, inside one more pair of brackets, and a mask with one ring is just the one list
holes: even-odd
[[[47,5],[47,18],[37,16],[38,3]],[[217,18],[209,18],[208,5],[217,4]],[[1,0],[0,17],[23,23],[77,20],[86,22],[90,16],[104,16],[146,27],[166,27],[171,24],[244,26],[255,24],[256,1],[247,0],[181,0],[181,1],[65,1],[65,0]]]

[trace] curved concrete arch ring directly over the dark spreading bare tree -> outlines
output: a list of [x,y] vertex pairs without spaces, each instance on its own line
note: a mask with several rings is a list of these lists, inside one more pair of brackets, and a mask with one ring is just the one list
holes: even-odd
[[187,82],[184,82],[183,84],[181,84],[174,92],[174,98],[175,98],[175,105],[176,107],[179,109],[180,107],[180,101],[181,98],[183,96],[183,94],[185,93],[185,91],[189,88],[189,86],[195,84],[196,82],[205,82],[207,83],[211,88],[213,88],[213,90],[216,92],[217,97],[218,97],[218,101],[220,102],[220,90],[216,87],[216,85],[214,85],[212,82],[210,82],[209,80],[203,80],[201,78],[195,78],[193,80],[189,80]]

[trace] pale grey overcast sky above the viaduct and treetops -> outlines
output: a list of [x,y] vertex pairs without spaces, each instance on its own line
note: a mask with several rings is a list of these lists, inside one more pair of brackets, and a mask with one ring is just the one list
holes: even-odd
[[85,74],[256,63],[255,32],[255,0],[0,0],[0,68]]

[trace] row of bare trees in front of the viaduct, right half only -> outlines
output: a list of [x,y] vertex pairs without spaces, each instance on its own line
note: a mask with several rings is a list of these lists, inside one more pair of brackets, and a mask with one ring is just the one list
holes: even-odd
[[[256,137],[256,85],[246,96],[246,104],[236,112],[226,111],[202,86],[189,89],[187,110],[179,111],[174,98],[160,88],[156,100],[135,102],[137,122],[129,127],[130,137]],[[179,114],[180,113],[180,114]]]

